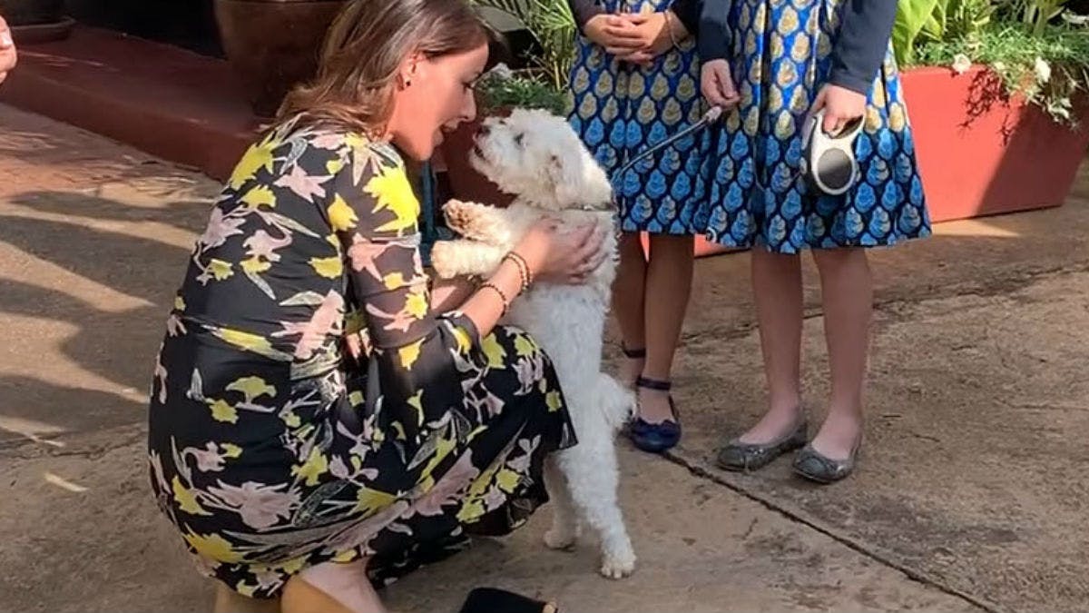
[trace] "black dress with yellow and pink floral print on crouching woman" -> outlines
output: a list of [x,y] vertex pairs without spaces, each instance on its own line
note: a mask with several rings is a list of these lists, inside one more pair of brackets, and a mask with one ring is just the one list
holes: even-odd
[[431,311],[419,203],[387,144],[302,127],[245,154],[167,323],[151,485],[207,575],[276,597],[369,556],[383,585],[502,534],[575,443],[524,333]]

